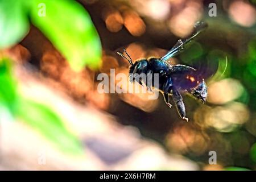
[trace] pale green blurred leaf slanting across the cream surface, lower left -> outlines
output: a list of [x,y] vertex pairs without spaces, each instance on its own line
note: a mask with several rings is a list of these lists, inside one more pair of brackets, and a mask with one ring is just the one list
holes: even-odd
[[43,134],[61,151],[73,155],[84,154],[80,140],[67,130],[59,115],[48,106],[22,98],[16,116]]

